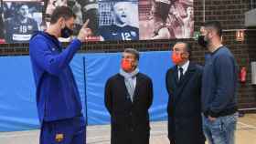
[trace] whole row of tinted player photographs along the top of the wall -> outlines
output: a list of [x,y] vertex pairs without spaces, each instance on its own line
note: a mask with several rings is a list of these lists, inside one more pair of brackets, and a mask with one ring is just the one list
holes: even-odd
[[37,30],[46,30],[57,6],[77,15],[74,35],[90,19],[88,41],[192,38],[193,0],[3,0],[0,44],[27,43]]

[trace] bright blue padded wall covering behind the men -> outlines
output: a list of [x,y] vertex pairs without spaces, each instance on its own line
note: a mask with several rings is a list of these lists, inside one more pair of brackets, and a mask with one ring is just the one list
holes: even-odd
[[[109,123],[103,91],[106,80],[119,72],[120,61],[120,53],[111,53],[80,54],[71,62],[83,112],[88,109],[89,125]],[[140,71],[152,77],[154,83],[152,120],[166,118],[165,72],[171,66],[170,52],[141,53]],[[0,131],[37,129],[36,92],[29,57],[0,57],[0,67]]]

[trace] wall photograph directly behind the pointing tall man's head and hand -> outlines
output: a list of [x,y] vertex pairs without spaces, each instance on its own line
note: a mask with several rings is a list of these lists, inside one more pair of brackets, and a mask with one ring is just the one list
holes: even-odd
[[[75,15],[75,26],[73,36],[77,36],[80,32],[81,26],[90,19],[88,25],[91,28],[92,36],[88,37],[88,41],[99,41],[99,15],[98,15],[98,4],[96,0],[46,0],[45,1],[45,16],[44,16],[44,30],[48,27],[50,16],[57,6],[69,6]],[[60,41],[69,41],[69,38],[59,38]]]

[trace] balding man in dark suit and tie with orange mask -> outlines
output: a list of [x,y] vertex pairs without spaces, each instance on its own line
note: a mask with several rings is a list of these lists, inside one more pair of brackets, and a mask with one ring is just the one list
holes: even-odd
[[169,94],[168,138],[171,144],[204,144],[200,91],[202,67],[189,61],[191,46],[177,42],[173,47],[175,67],[165,77]]

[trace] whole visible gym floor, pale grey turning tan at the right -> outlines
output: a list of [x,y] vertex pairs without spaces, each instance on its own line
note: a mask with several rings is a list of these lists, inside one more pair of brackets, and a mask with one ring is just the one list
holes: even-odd
[[[151,144],[169,144],[166,138],[166,122],[151,123]],[[0,132],[0,144],[38,144],[38,130]],[[87,129],[88,144],[110,144],[110,126],[90,126]],[[239,118],[236,144],[256,144],[256,114]]]

